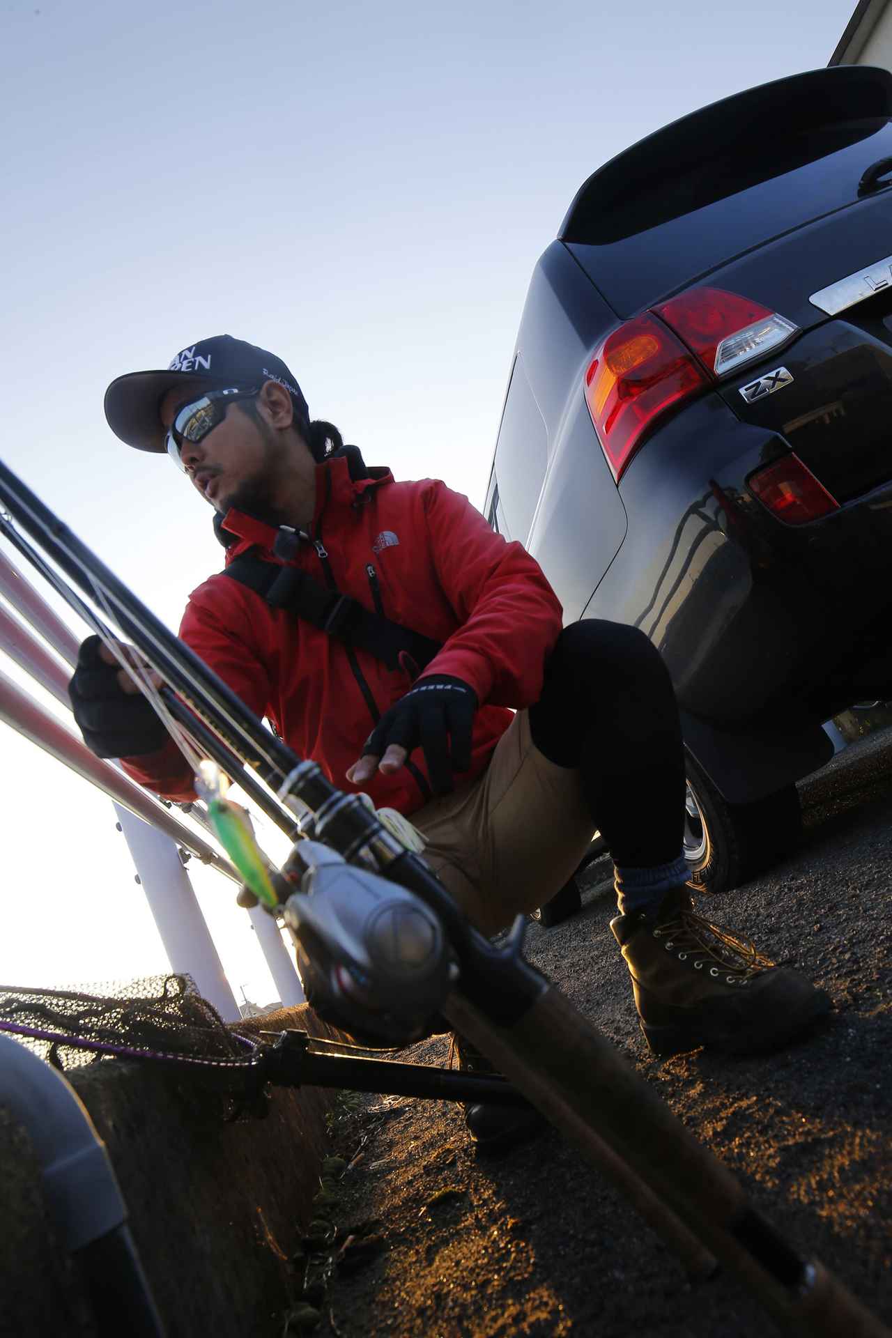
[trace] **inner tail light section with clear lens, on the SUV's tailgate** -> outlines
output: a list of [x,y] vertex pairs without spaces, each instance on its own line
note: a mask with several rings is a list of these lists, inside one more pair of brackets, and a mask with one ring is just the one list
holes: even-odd
[[777,312],[721,288],[694,288],[655,310],[714,376],[764,357],[797,332]]

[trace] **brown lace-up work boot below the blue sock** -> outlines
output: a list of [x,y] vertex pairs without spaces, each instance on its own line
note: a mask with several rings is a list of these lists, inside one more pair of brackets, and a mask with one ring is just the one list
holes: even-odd
[[773,1050],[832,1006],[805,977],[695,915],[685,887],[667,892],[659,910],[618,915],[610,927],[655,1054],[699,1045],[728,1054]]

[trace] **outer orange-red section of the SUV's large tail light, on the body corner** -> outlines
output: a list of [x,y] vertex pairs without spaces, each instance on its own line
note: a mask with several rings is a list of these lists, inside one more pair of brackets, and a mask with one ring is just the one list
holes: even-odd
[[586,372],[586,403],[617,483],[654,421],[707,384],[654,316],[637,316],[607,336]]

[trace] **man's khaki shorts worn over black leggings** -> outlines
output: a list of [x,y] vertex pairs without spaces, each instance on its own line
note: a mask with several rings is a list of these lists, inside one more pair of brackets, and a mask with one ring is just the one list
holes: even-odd
[[579,772],[539,752],[520,710],[484,772],[412,814],[424,858],[484,934],[543,906],[574,874],[595,832]]

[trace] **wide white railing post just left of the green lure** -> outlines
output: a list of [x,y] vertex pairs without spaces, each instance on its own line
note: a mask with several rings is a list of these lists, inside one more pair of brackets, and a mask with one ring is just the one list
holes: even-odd
[[199,994],[213,1004],[225,1022],[238,1022],[241,1013],[223,973],[198,899],[183,868],[177,843],[115,804],[148,909],[171,970],[191,975]]

